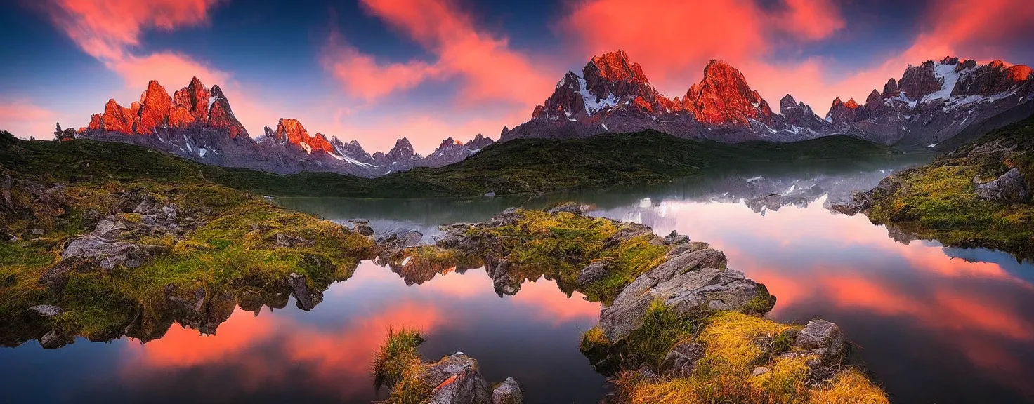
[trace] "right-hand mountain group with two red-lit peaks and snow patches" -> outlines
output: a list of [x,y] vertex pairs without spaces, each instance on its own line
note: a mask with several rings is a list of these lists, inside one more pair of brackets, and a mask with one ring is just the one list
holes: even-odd
[[987,131],[1034,111],[1032,70],[1023,65],[944,58],[909,65],[864,103],[832,101],[825,118],[787,94],[780,114],[722,60],[681,97],[650,85],[642,67],[617,51],[592,58],[578,75],[569,71],[531,119],[504,128],[500,141],[579,138],[608,132],[658,130],[723,143],[797,142],[846,134],[903,148],[927,147],[967,128]]

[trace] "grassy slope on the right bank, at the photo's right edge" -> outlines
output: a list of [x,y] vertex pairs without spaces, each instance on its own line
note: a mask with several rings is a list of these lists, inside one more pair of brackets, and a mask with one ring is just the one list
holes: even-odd
[[1034,117],[994,130],[974,143],[902,172],[869,192],[869,217],[946,245],[987,246],[1034,256],[1034,205],[1024,198],[986,198],[978,184],[1015,168],[1034,189]]

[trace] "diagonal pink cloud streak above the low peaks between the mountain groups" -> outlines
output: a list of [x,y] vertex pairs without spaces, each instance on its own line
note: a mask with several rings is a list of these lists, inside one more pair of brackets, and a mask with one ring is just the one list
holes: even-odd
[[382,63],[332,35],[324,65],[349,94],[372,99],[426,80],[458,77],[461,105],[504,101],[530,108],[553,83],[551,71],[510,49],[508,38],[476,27],[474,19],[452,1],[362,0],[361,4],[436,60]]

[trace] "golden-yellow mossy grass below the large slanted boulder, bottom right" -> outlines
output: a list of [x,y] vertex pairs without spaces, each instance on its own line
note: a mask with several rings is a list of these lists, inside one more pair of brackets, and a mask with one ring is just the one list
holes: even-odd
[[[649,316],[663,317],[663,309],[651,307]],[[704,355],[692,375],[647,379],[639,372],[622,371],[614,378],[615,395],[620,402],[631,404],[888,402],[878,386],[853,369],[841,372],[831,382],[809,385],[808,362],[815,358],[804,352],[779,355],[790,348],[789,336],[799,329],[741,313],[716,313],[695,333],[677,333],[677,340],[693,341],[703,348]],[[644,337],[655,335],[664,335],[663,330],[652,330]],[[672,340],[658,338],[657,343],[663,342],[658,347]],[[655,351],[660,352],[658,347]],[[769,371],[755,375],[753,371],[759,366]]]

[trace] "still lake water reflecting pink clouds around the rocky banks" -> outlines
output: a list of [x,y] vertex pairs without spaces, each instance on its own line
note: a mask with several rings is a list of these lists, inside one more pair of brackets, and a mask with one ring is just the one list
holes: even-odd
[[[663,186],[531,198],[355,200],[287,198],[331,220],[426,235],[510,206],[592,204],[591,214],[671,230],[725,251],[729,267],[778,297],[770,317],[837,322],[857,359],[898,403],[1034,402],[1034,265],[982,249],[908,241],[830,200],[913,163],[717,173]],[[388,327],[423,330],[431,359],[462,350],[489,381],[516,378],[528,403],[595,403],[604,377],[578,352],[600,306],[540,279],[499,298],[483,269],[407,285],[370,261],[311,312],[238,310],[216,335],[179,325],[141,344],[35,341],[0,349],[3,402],[345,402],[384,399],[369,375]],[[413,282],[410,282],[413,283]],[[9,401],[8,401],[9,400]]]

